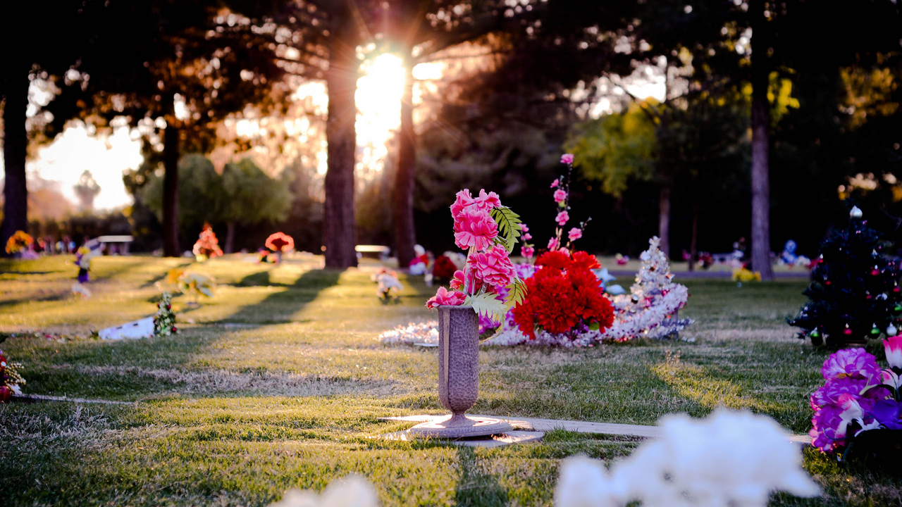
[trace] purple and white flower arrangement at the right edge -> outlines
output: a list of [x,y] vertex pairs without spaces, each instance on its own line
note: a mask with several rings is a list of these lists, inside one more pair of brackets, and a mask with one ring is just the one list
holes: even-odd
[[834,352],[824,361],[824,385],[811,395],[813,446],[843,456],[898,455],[902,448],[902,336],[890,336],[883,345],[887,368],[881,368],[877,358],[861,347]]

